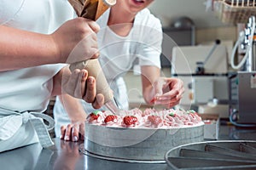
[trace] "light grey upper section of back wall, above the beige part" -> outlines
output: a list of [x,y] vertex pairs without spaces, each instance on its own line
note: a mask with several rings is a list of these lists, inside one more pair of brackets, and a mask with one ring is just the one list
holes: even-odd
[[189,16],[197,28],[230,26],[218,20],[212,10],[206,11],[207,0],[155,0],[149,8],[160,18],[163,26],[169,26],[180,16]]

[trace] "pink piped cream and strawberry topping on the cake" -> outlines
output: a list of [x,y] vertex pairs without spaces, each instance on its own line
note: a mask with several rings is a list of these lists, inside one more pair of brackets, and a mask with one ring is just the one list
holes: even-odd
[[130,111],[120,111],[113,115],[111,111],[94,111],[87,117],[87,122],[109,127],[183,127],[203,123],[201,116],[191,110],[169,109],[155,110],[146,109],[141,111],[137,108]]

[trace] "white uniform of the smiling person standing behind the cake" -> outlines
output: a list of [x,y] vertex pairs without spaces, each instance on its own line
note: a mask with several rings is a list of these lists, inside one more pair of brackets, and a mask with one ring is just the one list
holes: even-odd
[[[136,15],[129,35],[120,37],[112,31],[112,27],[108,27],[109,13],[110,9],[96,21],[101,26],[97,33],[99,61],[115,99],[122,109],[128,109],[123,76],[131,70],[134,61],[138,62],[138,65],[155,65],[160,68],[162,27],[160,20],[145,8]],[[82,100],[81,102],[86,113],[94,111],[90,104]],[[59,136],[61,125],[67,125],[70,121],[58,98],[55,102],[54,116],[55,134]]]

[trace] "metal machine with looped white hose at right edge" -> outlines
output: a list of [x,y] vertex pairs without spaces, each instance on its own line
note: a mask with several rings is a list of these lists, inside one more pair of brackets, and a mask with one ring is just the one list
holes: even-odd
[[[240,69],[230,77],[230,120],[237,126],[256,126],[256,37],[255,16],[251,16],[233,48],[231,66]],[[236,49],[245,51],[243,59],[235,65]],[[234,120],[236,119],[236,121]],[[240,123],[240,124],[239,124]],[[249,123],[249,125],[248,125]]]

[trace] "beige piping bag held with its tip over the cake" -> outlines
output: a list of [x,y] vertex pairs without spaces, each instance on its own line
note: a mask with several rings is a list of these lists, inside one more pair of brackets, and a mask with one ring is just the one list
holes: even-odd
[[[90,20],[97,20],[109,7],[116,3],[116,0],[68,0],[73,6],[74,10],[80,17]],[[96,94],[103,94],[104,105],[113,114],[119,114],[115,100],[113,99],[112,90],[109,88],[108,82],[98,59],[89,59],[69,66],[71,71],[75,69],[85,69],[88,71],[89,77],[96,78]]]

